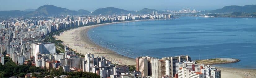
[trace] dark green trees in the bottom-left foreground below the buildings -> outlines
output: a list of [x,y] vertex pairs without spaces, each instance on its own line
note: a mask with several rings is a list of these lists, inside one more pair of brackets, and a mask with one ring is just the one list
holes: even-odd
[[[0,78],[7,78],[11,76],[25,77],[27,73],[32,73],[33,77],[56,77],[61,75],[69,75],[69,78],[100,78],[95,73],[90,72],[64,72],[63,68],[39,68],[28,65],[17,65],[9,57],[4,57],[5,64],[0,64]],[[34,72],[40,72],[35,74]]]

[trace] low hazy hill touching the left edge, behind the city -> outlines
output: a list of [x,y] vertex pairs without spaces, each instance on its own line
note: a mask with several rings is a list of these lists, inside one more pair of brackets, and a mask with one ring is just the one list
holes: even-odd
[[21,10],[8,10],[8,11],[0,11],[0,17],[19,17],[19,16],[25,16],[26,14],[31,13]]

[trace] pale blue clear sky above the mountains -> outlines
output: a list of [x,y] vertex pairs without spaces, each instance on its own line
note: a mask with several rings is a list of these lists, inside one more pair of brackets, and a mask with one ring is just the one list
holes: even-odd
[[256,0],[0,0],[0,10],[37,9],[43,5],[54,5],[69,10],[94,11],[98,8],[116,7],[124,10],[215,10],[230,5],[255,5]]

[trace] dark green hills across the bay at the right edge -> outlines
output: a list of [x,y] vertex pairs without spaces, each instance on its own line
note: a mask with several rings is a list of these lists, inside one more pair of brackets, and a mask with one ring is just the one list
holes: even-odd
[[223,13],[223,14],[230,14],[233,12],[241,12],[241,13],[254,13],[256,12],[256,5],[245,5],[245,6],[225,6],[221,9],[217,10],[209,10],[209,11],[202,11],[200,13]]

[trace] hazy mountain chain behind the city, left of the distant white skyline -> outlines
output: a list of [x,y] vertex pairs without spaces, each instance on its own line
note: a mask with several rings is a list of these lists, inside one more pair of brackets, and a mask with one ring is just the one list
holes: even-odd
[[154,10],[154,9],[148,9],[144,8],[140,11],[129,11],[124,9],[119,9],[115,7],[106,7],[106,8],[100,8],[92,13],[87,10],[69,10],[66,8],[61,8],[53,5],[43,5],[40,6],[38,9],[27,9],[27,10],[10,10],[10,11],[0,11],[1,17],[29,17],[29,16],[54,16],[54,15],[111,15],[111,14],[150,14],[153,11],[158,11],[158,13],[164,13],[164,11],[160,10]]

